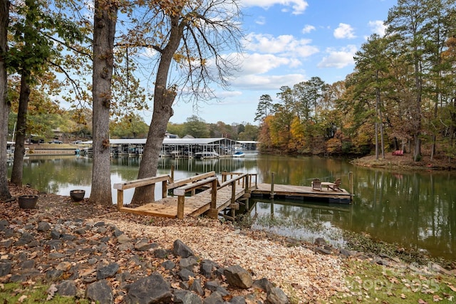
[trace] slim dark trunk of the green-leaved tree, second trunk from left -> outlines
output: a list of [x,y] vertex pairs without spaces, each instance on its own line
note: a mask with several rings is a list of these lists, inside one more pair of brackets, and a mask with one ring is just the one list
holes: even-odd
[[19,110],[17,112],[16,143],[14,145],[13,171],[11,182],[17,186],[22,185],[22,171],[24,168],[24,155],[26,154],[27,110],[28,97],[30,96],[30,74],[26,71],[21,75],[21,92],[19,93]]

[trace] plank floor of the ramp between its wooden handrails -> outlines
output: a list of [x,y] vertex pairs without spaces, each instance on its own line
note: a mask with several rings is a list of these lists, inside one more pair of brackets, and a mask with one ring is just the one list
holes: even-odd
[[[245,194],[245,189],[236,187],[235,198],[239,199]],[[227,186],[217,191],[217,211],[226,209],[232,203],[232,187]],[[184,216],[199,216],[204,212],[209,211],[211,203],[211,189],[204,190],[193,196],[185,197]],[[141,206],[130,208],[123,206],[120,208],[122,212],[129,212],[133,214],[141,214],[148,216],[164,216],[170,218],[177,217],[177,196],[167,196],[164,199],[147,203]]]

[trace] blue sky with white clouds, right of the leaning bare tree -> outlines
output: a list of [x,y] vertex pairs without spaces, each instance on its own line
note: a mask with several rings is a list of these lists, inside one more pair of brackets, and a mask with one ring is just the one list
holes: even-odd
[[[281,86],[311,77],[332,84],[353,72],[353,56],[368,36],[383,36],[383,21],[396,0],[241,0],[244,62],[219,100],[199,104],[179,100],[172,123],[192,115],[207,123],[254,122],[261,95],[277,102]],[[147,124],[151,113],[142,113]]]

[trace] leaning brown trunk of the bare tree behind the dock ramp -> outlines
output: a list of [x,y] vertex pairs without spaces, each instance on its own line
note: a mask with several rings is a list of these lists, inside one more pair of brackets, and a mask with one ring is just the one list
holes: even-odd
[[[138,179],[155,177],[157,174],[160,149],[162,147],[163,138],[165,138],[167,123],[170,121],[170,117],[173,114],[172,103],[174,103],[176,93],[174,90],[167,88],[167,78],[172,56],[174,56],[174,53],[179,46],[180,39],[182,38],[182,28],[184,24],[179,24],[179,14],[175,14],[175,16],[172,17],[171,25],[170,41],[161,51],[160,63],[157,69],[154,90],[154,112],[147,134],[144,154],[142,154]],[[136,188],[132,202],[141,204],[155,201],[154,186],[155,185]]]

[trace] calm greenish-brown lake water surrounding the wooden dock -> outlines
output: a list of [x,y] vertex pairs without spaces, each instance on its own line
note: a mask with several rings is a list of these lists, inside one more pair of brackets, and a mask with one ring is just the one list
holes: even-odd
[[[139,164],[138,157],[113,159],[113,184],[136,179]],[[322,181],[341,178],[346,189],[348,173],[353,172],[353,204],[257,199],[252,209],[257,215],[254,226],[264,228],[266,219],[274,216],[271,231],[307,241],[322,236],[343,245],[341,231],[348,230],[427,251],[430,256],[454,259],[456,254],[455,172],[397,172],[354,167],[343,159],[247,154],[244,159],[163,158],[158,174],[170,174],[172,165],[175,179],[226,170],[257,173],[258,182],[269,183],[274,172],[276,184],[310,186],[315,177]],[[85,189],[89,196],[91,169],[92,159],[86,157],[29,157],[24,160],[24,184],[66,196],[72,189]],[[125,203],[132,195],[133,190],[125,192]],[[113,196],[115,201],[115,192]]]

